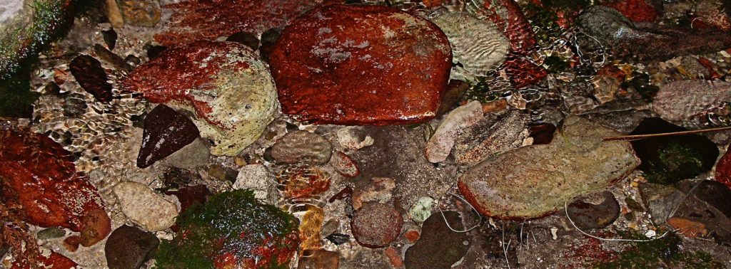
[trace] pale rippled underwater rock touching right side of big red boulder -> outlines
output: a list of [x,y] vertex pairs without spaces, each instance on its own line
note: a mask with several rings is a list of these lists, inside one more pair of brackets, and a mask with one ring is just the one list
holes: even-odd
[[461,63],[463,72],[452,69],[452,79],[461,75],[474,79],[505,61],[510,41],[494,23],[480,20],[466,12],[447,12],[432,20],[444,31],[452,45],[454,63]]

